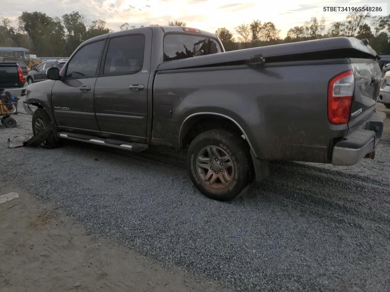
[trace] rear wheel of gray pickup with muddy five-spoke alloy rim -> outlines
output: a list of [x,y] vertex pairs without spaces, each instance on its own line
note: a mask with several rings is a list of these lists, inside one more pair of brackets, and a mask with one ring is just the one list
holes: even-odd
[[[209,148],[208,146],[213,146],[214,148]],[[226,170],[228,176],[231,178],[230,182],[227,182],[228,179],[225,179],[225,176],[223,175],[225,170],[222,168],[219,169],[219,165],[223,165],[221,164],[222,162],[214,162],[216,161],[216,158],[211,159],[210,156],[207,155],[207,153],[210,153],[209,149],[218,150],[218,154],[213,157],[218,157],[218,155],[219,157],[227,155],[224,157],[225,159],[226,157],[229,157],[231,165],[234,166],[234,172],[232,169]],[[203,151],[206,151],[207,153]],[[200,153],[205,153],[207,156],[200,156]],[[207,157],[210,158],[210,161],[206,162]],[[200,161],[200,159],[204,160],[204,162],[201,162],[202,167],[197,167],[197,161]],[[213,164],[211,164],[211,160],[213,160]],[[229,201],[238,197],[247,189],[246,187],[249,186],[250,183],[251,163],[250,150],[247,142],[239,135],[223,129],[209,130],[195,137],[188,147],[186,159],[187,171],[192,183],[202,194],[217,201]],[[210,165],[210,170],[208,169],[207,164]],[[229,162],[227,162],[227,164],[229,164]],[[202,171],[202,169],[204,171]],[[213,170],[213,173],[210,172],[211,169]],[[220,171],[222,171],[221,174],[219,173]],[[215,176],[218,176],[215,181],[219,181],[219,185],[218,183],[214,183],[213,186],[211,186],[211,182],[207,183],[205,178],[202,178],[202,174],[205,177],[212,176],[212,179]],[[229,185],[224,185],[221,178],[225,180],[225,183],[229,183]]]

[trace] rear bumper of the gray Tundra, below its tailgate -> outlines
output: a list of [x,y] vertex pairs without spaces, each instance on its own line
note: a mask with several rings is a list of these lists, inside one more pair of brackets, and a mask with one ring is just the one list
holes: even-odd
[[386,114],[375,112],[361,130],[348,134],[335,144],[332,153],[333,165],[354,165],[374,151],[382,137]]

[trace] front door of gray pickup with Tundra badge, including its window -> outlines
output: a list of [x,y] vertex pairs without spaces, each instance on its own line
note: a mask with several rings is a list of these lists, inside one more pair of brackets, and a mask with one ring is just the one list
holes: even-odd
[[81,47],[54,83],[51,102],[60,130],[99,135],[94,109],[94,86],[105,40]]

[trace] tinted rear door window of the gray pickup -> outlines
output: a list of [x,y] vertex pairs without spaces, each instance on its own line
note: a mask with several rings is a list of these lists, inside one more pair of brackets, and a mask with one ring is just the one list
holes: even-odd
[[103,75],[136,73],[144,63],[145,36],[113,37],[108,44]]

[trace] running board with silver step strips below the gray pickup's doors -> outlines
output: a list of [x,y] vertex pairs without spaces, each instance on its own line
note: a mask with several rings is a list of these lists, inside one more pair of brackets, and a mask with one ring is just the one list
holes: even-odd
[[83,134],[75,134],[70,132],[58,132],[58,137],[62,139],[86,142],[90,144],[103,145],[112,148],[124,149],[133,152],[147,150],[149,146],[143,143],[128,142],[109,138],[99,138]]

